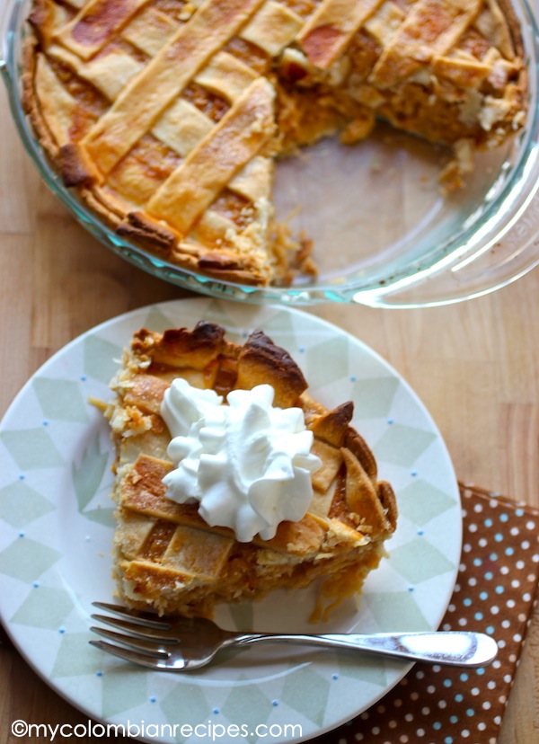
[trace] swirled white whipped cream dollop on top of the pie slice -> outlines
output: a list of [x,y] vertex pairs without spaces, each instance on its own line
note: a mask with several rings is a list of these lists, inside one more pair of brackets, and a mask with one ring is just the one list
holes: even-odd
[[313,496],[313,432],[300,408],[273,407],[271,385],[214,390],[182,378],[165,392],[161,413],[172,440],[167,496],[199,502],[210,527],[231,527],[240,542],[275,536],[280,522],[305,516]]

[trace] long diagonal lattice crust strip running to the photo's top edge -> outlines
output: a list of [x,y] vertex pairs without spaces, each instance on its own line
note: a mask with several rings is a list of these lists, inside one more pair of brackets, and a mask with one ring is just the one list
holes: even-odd
[[162,111],[263,0],[206,0],[88,132],[82,144],[102,174],[154,126]]

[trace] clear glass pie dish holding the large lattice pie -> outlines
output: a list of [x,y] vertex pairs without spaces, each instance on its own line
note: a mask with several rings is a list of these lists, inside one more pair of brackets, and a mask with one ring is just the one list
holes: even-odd
[[116,235],[66,189],[22,109],[22,41],[30,0],[7,0],[0,70],[22,143],[49,188],[98,240],[181,288],[252,303],[442,305],[503,287],[539,263],[539,31],[526,0],[514,0],[529,78],[525,127],[477,156],[462,190],[442,196],[441,148],[379,128],[357,146],[325,139],[278,163],[278,217],[314,239],[315,278],[287,288],[217,282],[181,270]]

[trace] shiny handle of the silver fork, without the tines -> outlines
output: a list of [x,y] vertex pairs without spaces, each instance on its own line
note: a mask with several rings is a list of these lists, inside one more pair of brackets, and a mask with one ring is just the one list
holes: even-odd
[[483,667],[498,653],[490,635],[467,631],[434,631],[432,633],[241,633],[227,645],[287,642],[296,645],[353,649],[412,661],[427,661],[455,667]]

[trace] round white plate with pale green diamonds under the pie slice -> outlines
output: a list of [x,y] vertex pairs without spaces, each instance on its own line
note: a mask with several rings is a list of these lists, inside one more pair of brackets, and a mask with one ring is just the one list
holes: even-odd
[[222,324],[235,341],[263,329],[296,359],[322,403],[353,400],[354,424],[400,510],[389,558],[328,623],[308,624],[309,590],[224,608],[219,621],[291,632],[437,628],[454,588],[462,523],[453,467],[429,413],[393,368],[335,326],[297,310],[210,298],[103,323],[49,359],[15,398],[0,427],[0,615],[32,667],[100,726],[116,723],[152,742],[309,739],[365,710],[410,665],[268,646],[171,675],[88,643],[91,603],[110,600],[114,589],[112,448],[88,399],[110,398],[108,382],[134,331],[200,319]]

